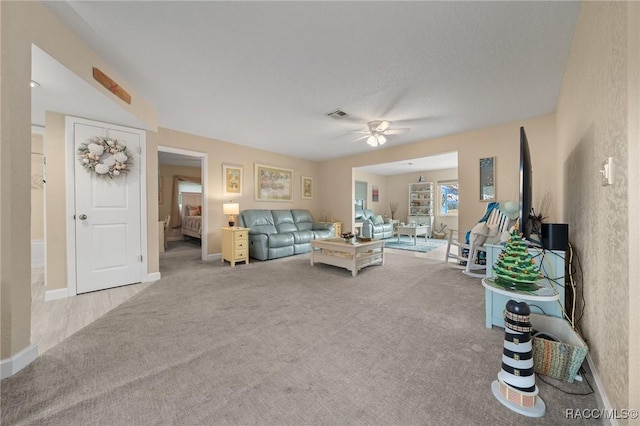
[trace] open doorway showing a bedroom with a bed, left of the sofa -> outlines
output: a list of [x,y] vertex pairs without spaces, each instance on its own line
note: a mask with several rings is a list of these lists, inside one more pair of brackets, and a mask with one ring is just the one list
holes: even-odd
[[207,259],[206,154],[158,147],[160,266],[176,250]]

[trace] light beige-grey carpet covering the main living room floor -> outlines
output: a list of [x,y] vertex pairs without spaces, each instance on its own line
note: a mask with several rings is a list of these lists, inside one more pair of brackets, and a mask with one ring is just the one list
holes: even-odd
[[2,381],[2,424],[576,425],[565,408],[597,406],[541,381],[542,419],[496,401],[503,332],[443,263],[389,253],[352,277],[198,256],[165,257],[162,280]]

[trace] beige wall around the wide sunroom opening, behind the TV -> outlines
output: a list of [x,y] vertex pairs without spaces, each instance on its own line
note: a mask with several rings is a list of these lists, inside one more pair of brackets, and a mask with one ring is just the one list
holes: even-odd
[[[552,199],[549,221],[557,221],[557,207],[560,204],[559,175],[554,169],[555,160],[549,158],[549,152],[555,149],[555,121],[552,115],[322,162],[321,198],[325,204],[334,206],[335,217],[350,218],[345,220],[347,224],[353,221],[353,181],[356,180],[354,167],[458,152],[458,227],[471,229],[486,208],[486,202],[479,201],[477,193],[480,186],[480,158],[496,157],[497,198],[519,199],[520,126],[525,127],[531,148],[534,206],[539,202],[536,194],[548,192]],[[388,203],[385,209],[388,210]]]

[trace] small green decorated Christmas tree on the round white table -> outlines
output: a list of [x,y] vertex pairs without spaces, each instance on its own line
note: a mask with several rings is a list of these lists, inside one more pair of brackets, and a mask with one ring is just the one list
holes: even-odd
[[504,250],[493,265],[496,283],[518,290],[534,290],[542,275],[536,261],[527,249],[527,243],[517,229],[511,233]]

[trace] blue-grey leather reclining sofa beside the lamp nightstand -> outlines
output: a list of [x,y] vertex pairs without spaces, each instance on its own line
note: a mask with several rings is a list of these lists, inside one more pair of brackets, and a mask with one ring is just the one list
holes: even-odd
[[315,223],[309,210],[243,210],[238,225],[249,228],[249,256],[277,259],[311,251],[311,241],[332,238],[332,223]]

